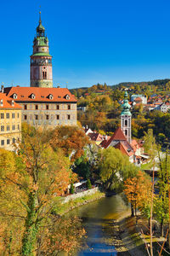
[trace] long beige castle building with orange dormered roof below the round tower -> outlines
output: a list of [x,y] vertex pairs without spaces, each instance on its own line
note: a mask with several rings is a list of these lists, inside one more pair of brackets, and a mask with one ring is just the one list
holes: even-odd
[[8,87],[6,95],[22,107],[22,122],[54,129],[77,125],[77,99],[66,88]]

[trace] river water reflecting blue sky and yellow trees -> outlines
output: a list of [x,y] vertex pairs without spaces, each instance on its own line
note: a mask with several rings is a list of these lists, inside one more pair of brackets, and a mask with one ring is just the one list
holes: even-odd
[[101,198],[78,207],[69,213],[70,216],[82,218],[82,225],[87,234],[88,247],[83,248],[78,256],[89,255],[117,255],[113,241],[113,230],[116,219],[129,209],[120,195]]

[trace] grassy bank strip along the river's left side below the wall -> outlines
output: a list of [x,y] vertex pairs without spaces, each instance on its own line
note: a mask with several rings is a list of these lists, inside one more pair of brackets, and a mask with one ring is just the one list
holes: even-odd
[[63,215],[76,207],[80,207],[91,201],[96,201],[102,197],[105,197],[105,193],[98,191],[92,195],[84,195],[80,198],[76,198],[75,200],[68,201],[64,204],[62,204],[62,202],[58,199],[58,201],[56,202],[56,207],[54,207],[54,212],[56,214]]

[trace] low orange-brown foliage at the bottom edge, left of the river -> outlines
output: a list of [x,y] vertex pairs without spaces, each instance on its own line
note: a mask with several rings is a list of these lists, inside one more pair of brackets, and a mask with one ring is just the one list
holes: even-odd
[[51,216],[38,234],[37,256],[58,255],[60,252],[73,253],[81,246],[85,234],[79,218]]

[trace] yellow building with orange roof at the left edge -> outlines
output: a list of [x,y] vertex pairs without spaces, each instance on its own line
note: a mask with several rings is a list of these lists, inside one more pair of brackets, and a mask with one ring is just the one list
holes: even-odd
[[21,107],[0,92],[0,148],[14,150],[21,138]]

